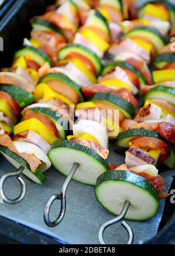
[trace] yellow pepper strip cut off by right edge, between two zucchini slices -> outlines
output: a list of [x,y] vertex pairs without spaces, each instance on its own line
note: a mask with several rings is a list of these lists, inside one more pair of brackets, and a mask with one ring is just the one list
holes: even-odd
[[153,80],[155,84],[162,83],[163,81],[175,80],[175,69],[163,69],[153,71]]

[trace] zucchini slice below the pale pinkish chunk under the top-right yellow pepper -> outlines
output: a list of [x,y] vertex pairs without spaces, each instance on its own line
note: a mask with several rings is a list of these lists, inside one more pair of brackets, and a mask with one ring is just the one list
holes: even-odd
[[145,36],[147,37],[152,44],[156,47],[157,51],[163,48],[168,41],[167,38],[164,37],[159,30],[152,28],[150,26],[136,26],[135,28],[131,29],[128,33],[125,34],[126,37],[130,36]]

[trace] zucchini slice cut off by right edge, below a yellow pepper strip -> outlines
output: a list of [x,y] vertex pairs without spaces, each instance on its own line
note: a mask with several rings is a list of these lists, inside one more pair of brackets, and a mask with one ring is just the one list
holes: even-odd
[[175,105],[175,88],[162,85],[156,86],[145,94],[143,101],[145,102],[147,99],[152,100],[155,98],[159,100],[166,99],[169,103]]

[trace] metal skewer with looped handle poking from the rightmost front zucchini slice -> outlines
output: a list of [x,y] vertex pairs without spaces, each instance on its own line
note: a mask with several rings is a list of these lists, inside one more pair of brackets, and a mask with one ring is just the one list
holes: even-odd
[[[106,230],[107,227],[113,225],[113,224],[116,224],[118,223],[119,221],[121,221],[122,219],[124,219],[125,215],[127,214],[127,211],[128,211],[128,208],[130,206],[130,203],[128,201],[125,201],[124,203],[124,206],[121,210],[121,213],[115,217],[114,219],[111,219],[111,220],[108,220],[106,221],[99,229],[99,234],[98,234],[98,238],[99,238],[99,243],[100,244],[106,244],[104,242],[104,238],[103,238],[103,235],[104,235],[104,230]],[[128,241],[127,241],[127,244],[132,244],[133,241],[134,241],[134,233],[133,233],[133,230],[132,228],[127,224],[126,221],[122,221],[121,222],[121,225],[125,228],[125,230],[127,230],[128,232]]]

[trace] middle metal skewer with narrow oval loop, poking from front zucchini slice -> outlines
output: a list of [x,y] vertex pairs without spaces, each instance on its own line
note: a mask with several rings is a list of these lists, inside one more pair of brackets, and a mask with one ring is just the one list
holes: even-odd
[[[51,196],[48,199],[46,206],[44,207],[44,222],[46,223],[46,225],[48,227],[56,227],[64,219],[65,211],[66,211],[66,207],[67,207],[67,201],[66,201],[67,187],[68,187],[69,183],[71,182],[71,179],[74,176],[76,170],[78,169],[78,166],[79,166],[78,163],[74,163],[67,178],[65,179],[64,184],[61,187],[61,193],[53,194],[53,196]],[[49,214],[50,214],[51,206],[55,200],[61,200],[61,209],[60,209],[60,213],[59,213],[57,219],[54,221],[51,221]]]

